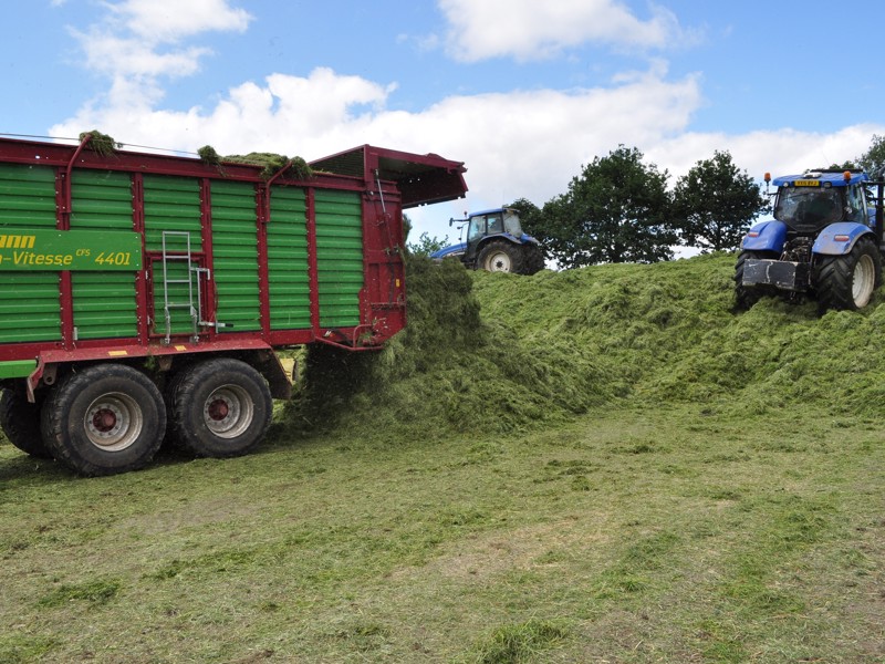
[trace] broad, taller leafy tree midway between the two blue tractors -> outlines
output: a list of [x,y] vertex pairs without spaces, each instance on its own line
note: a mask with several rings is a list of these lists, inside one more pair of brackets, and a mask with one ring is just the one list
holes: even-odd
[[544,205],[544,232],[532,230],[563,268],[670,259],[677,238],[667,220],[667,177],[621,145],[584,166],[568,193]]

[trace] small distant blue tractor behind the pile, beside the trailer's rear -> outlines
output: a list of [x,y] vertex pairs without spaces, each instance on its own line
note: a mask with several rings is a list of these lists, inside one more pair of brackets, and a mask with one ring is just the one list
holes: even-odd
[[541,245],[522,232],[519,212],[513,208],[494,208],[449,219],[449,226],[467,226],[467,241],[435,251],[430,258],[458,258],[472,270],[534,274],[544,267]]

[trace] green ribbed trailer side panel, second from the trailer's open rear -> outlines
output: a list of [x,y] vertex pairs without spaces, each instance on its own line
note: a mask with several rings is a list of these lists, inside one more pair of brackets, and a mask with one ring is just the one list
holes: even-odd
[[268,224],[268,273],[271,329],[310,329],[308,206],[304,189],[272,189]]

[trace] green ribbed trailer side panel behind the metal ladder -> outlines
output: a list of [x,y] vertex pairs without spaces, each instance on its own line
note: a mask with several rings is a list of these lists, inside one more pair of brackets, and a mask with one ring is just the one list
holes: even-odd
[[[163,251],[163,231],[186,232],[190,238],[191,255],[202,251],[202,232],[200,222],[200,183],[195,177],[176,177],[168,175],[145,175],[145,248],[148,251]],[[185,255],[187,241],[185,236],[167,236],[166,251]],[[196,267],[196,266],[195,266]],[[194,274],[187,273],[187,263],[183,260],[168,260],[166,270],[169,274],[168,301],[170,304],[189,303],[187,283],[173,281],[191,279],[196,289]],[[166,333],[164,314],[164,277],[163,262],[155,260],[153,264],[154,324],[155,333]],[[194,290],[194,305],[197,292]],[[171,307],[173,334],[192,334],[194,324],[187,307]]]

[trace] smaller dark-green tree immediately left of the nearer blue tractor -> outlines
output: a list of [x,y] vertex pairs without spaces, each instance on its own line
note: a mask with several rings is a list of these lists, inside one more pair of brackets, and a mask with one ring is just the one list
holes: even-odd
[[737,249],[750,220],[767,207],[759,185],[728,152],[695,164],[673,193],[673,220],[683,241],[705,251]]

